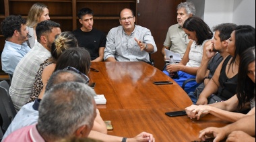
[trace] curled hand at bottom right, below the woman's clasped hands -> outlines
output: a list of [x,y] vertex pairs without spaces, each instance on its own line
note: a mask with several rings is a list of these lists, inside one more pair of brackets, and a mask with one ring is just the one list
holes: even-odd
[[205,141],[208,138],[214,138],[214,142],[221,141],[226,137],[226,131],[224,128],[208,127],[199,131],[199,139]]

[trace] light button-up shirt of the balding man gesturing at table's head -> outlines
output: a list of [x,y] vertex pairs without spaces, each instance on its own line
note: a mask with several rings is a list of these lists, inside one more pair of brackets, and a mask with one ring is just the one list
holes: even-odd
[[148,52],[145,50],[141,51],[134,38],[137,38],[137,40],[140,40],[145,44],[152,44],[154,46],[154,52],[157,51],[150,29],[135,25],[133,32],[129,36],[125,33],[123,26],[120,25],[119,27],[110,29],[108,36],[106,36],[104,60],[113,57],[120,62],[150,62]]

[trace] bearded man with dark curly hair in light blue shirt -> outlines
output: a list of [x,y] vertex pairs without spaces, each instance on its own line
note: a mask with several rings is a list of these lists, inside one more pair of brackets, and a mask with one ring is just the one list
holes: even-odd
[[2,21],[1,29],[6,38],[1,55],[2,70],[12,76],[17,64],[30,51],[26,44],[28,40],[26,19],[21,15],[10,15]]

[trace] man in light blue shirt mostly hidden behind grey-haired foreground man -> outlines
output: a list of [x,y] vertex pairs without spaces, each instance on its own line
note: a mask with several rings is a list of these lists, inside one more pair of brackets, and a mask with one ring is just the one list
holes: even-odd
[[[86,80],[84,80],[81,76],[76,74],[75,72],[71,72],[69,70],[58,70],[49,79],[48,83],[46,84],[46,92],[51,89],[52,86],[55,86],[57,84],[61,84],[63,82],[83,82],[86,83]],[[95,93],[95,92],[94,92]],[[45,95],[45,94],[44,94]],[[55,94],[52,94],[55,95]],[[44,99],[43,99],[44,100]],[[38,121],[38,106],[40,104],[41,99],[36,99],[35,102],[30,102],[28,104],[25,104],[22,106],[22,109],[18,112],[18,114],[15,116],[13,121],[11,122],[11,125],[8,127],[7,131],[5,132],[5,137],[7,137],[10,133],[13,131],[20,129],[22,127],[26,127],[28,125],[33,125]],[[112,135],[106,135],[106,125],[100,123],[101,117],[99,114],[99,111],[96,110],[97,115],[96,119],[94,120],[94,126],[92,127],[92,131],[90,132],[89,137],[92,139],[100,139],[102,141],[121,141],[122,137],[112,136]],[[29,116],[29,117],[24,117]],[[153,141],[154,138],[149,133],[140,133],[134,138],[129,138],[132,141],[143,141],[140,140],[143,137],[149,137],[145,138],[146,141]]]

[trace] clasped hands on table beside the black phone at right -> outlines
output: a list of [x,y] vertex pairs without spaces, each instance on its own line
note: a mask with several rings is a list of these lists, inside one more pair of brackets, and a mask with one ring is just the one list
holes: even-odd
[[190,119],[195,119],[199,120],[201,117],[204,115],[207,115],[209,113],[209,108],[210,106],[207,105],[194,105],[192,104],[191,106],[187,107],[185,109],[187,116],[190,117]]

